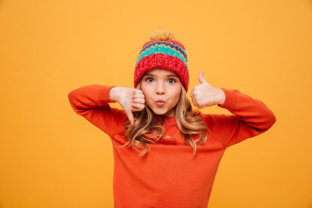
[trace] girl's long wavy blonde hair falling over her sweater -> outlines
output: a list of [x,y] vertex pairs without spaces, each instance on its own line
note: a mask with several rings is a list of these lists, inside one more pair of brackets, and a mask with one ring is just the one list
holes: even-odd
[[[137,89],[141,90],[141,82],[139,82]],[[184,143],[193,148],[192,156],[195,156],[197,148],[196,143],[205,144],[207,142],[208,129],[205,122],[198,114],[198,109],[193,111],[190,101],[187,98],[184,87],[182,86],[179,101],[175,108],[175,121],[176,126],[184,136]],[[130,125],[128,120],[125,123],[126,132],[124,134],[128,142],[121,146],[132,146],[139,156],[144,156],[150,151],[147,147],[147,143],[155,144],[160,138],[171,138],[171,136],[164,136],[165,129],[162,126],[163,117],[153,112],[151,108],[145,105],[142,111],[133,112],[135,123],[134,126]],[[158,122],[157,122],[158,121]],[[164,120],[167,126],[167,121]],[[198,138],[194,140],[192,136],[195,135]],[[153,139],[152,139],[153,138]],[[120,147],[120,148],[121,148]],[[141,149],[141,151],[139,150]]]

